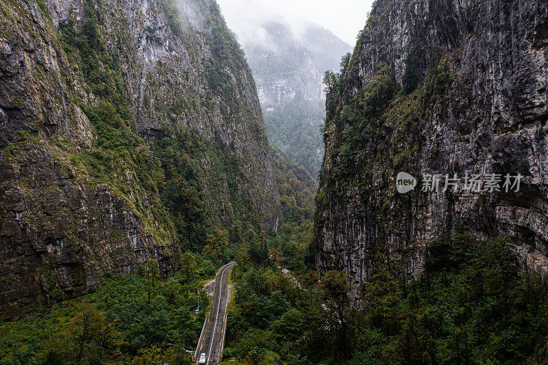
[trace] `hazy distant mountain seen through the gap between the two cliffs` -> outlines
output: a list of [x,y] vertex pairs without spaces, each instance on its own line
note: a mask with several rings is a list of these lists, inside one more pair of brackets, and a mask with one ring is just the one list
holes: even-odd
[[223,15],[253,71],[271,144],[316,176],[324,151],[323,74],[338,70],[350,45],[319,25],[292,27],[276,14],[230,8]]

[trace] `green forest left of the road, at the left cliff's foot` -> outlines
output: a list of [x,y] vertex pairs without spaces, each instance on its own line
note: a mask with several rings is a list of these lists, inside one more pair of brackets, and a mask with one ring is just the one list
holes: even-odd
[[209,297],[203,279],[215,266],[190,253],[164,281],[158,263],[113,275],[93,293],[0,327],[0,364],[191,364]]

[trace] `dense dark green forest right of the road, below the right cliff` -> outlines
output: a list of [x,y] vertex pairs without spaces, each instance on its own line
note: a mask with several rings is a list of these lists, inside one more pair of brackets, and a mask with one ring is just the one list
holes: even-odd
[[267,260],[234,268],[227,357],[249,364],[267,354],[288,364],[548,361],[548,283],[503,239],[440,237],[427,247],[425,273],[410,283],[379,253],[375,260],[386,264],[359,288],[338,270],[319,283],[306,242],[270,242]]

